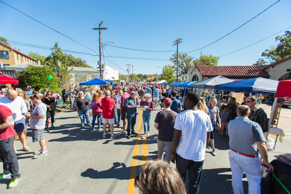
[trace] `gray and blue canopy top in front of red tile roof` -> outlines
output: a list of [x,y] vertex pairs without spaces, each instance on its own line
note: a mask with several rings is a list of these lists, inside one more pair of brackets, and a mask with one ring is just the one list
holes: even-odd
[[223,76],[216,76],[203,81],[198,81],[196,83],[191,83],[190,87],[194,88],[214,88],[218,84],[233,82],[233,80],[228,79]]

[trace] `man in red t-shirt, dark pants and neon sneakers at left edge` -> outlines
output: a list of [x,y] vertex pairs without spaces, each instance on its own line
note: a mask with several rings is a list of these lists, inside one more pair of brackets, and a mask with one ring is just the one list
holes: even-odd
[[14,144],[14,119],[12,111],[4,105],[0,105],[0,159],[3,162],[3,173],[0,180],[11,175],[8,188],[15,187],[21,179]]

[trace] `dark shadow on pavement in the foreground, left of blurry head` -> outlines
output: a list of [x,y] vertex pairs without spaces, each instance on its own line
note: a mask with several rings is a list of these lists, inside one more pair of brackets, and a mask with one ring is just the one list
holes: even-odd
[[[120,168],[121,167],[121,168]],[[89,177],[91,179],[119,179],[128,180],[131,166],[126,167],[125,163],[114,162],[113,166],[108,170],[98,171],[92,168],[88,168],[81,173],[82,177]],[[137,166],[139,168],[139,166]]]

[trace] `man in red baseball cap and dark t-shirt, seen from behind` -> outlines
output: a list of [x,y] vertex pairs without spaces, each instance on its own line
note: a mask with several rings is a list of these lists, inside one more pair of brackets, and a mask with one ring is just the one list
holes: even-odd
[[[154,127],[158,129],[158,158],[170,163],[172,141],[175,134],[174,124],[178,113],[172,111],[170,106],[172,104],[171,98],[164,99],[164,111],[157,113]],[[165,150],[165,155],[163,153]]]

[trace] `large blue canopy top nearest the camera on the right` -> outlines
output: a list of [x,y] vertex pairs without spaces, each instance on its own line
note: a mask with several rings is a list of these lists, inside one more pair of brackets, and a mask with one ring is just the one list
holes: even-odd
[[219,84],[215,86],[215,89],[260,94],[275,94],[278,83],[279,81],[276,80],[257,77]]

